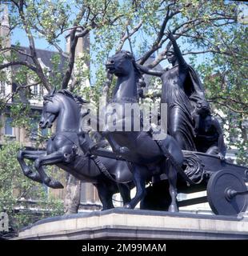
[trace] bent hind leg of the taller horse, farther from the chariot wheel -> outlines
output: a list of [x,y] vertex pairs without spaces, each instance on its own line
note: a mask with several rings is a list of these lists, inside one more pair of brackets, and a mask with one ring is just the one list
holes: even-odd
[[124,207],[134,209],[134,207],[146,196],[146,174],[145,166],[133,165],[134,185],[136,187],[136,194],[134,198]]

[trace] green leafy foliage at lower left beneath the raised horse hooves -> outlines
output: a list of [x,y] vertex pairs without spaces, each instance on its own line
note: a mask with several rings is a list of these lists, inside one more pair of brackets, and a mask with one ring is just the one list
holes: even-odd
[[[0,212],[6,211],[15,231],[46,216],[63,213],[62,202],[22,174],[16,158],[21,148],[18,142],[6,142],[0,149]],[[34,209],[32,213],[28,210],[30,206]]]

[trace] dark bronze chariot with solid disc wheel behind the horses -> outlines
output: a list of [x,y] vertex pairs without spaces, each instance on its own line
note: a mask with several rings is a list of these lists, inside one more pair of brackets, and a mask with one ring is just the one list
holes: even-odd
[[[221,160],[217,155],[183,151],[183,169],[186,175],[178,175],[178,193],[191,194],[206,190],[206,195],[178,202],[178,206],[190,206],[209,202],[211,210],[218,215],[237,215],[246,211],[248,204],[248,169],[245,166]],[[170,205],[166,177],[154,177],[146,188],[143,209],[166,210]],[[158,193],[159,192],[159,193]],[[155,202],[151,202],[154,198]]]

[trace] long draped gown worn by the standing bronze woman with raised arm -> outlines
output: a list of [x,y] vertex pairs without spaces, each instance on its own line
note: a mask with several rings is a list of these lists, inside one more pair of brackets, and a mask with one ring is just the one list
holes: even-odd
[[[181,75],[180,75],[181,72]],[[184,75],[182,76],[182,73]],[[168,133],[180,140],[182,150],[195,151],[194,145],[194,122],[191,113],[194,110],[190,93],[194,92],[192,85],[192,69],[184,62],[179,67],[173,66],[170,70],[165,70],[162,78],[161,103],[167,103],[167,129]],[[184,78],[182,78],[184,77]],[[190,92],[189,79],[191,78]],[[192,96],[193,94],[191,94]]]

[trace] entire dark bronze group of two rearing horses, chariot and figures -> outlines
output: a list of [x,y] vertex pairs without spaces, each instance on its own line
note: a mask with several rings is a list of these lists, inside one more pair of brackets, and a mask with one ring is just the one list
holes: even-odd
[[[141,72],[162,78],[162,100],[169,105],[168,130],[165,139],[154,140],[150,131],[99,131],[107,138],[113,152],[96,149],[105,142],[93,144],[85,130],[79,129],[80,120],[89,114],[81,113],[86,102],[67,90],[52,91],[44,97],[41,128],[50,127],[57,120],[55,134],[47,142],[46,150],[21,150],[18,162],[23,173],[36,182],[52,188],[62,184],[47,176],[43,166],[57,165],[82,181],[92,182],[98,189],[103,210],[113,207],[112,195],[120,192],[126,208],[178,211],[177,194],[207,190],[207,197],[186,200],[186,205],[209,202],[214,214],[237,215],[246,210],[248,200],[248,170],[226,162],[226,147],[217,119],[210,114],[202,84],[194,70],[186,64],[168,32],[174,50],[167,52],[173,68],[163,72],[138,65],[127,51],[114,54],[106,62],[109,78],[117,82],[114,94],[106,106],[108,118],[114,115],[113,106],[123,108],[126,103],[138,103],[138,86],[142,88]],[[140,89],[139,88],[139,89]],[[115,121],[125,120],[124,114],[115,115]],[[138,120],[142,127],[142,118]],[[91,118],[97,122],[98,118]],[[162,122],[162,120],[161,120]],[[133,124],[133,123],[132,123]],[[133,126],[132,126],[133,127]],[[202,151],[202,152],[199,152]],[[219,156],[214,155],[219,154]],[[26,165],[34,161],[37,172]],[[146,183],[152,186],[146,189]],[[130,189],[136,186],[134,198]],[[166,196],[170,193],[170,198]]]

